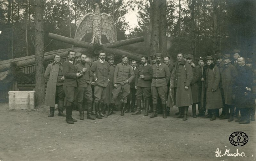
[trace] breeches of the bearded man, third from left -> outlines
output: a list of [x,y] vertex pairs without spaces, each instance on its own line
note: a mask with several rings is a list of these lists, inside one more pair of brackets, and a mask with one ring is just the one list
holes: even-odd
[[91,86],[87,85],[86,88],[77,87],[77,102],[83,103],[83,100],[86,99],[87,103],[93,102],[93,90],[91,90]]

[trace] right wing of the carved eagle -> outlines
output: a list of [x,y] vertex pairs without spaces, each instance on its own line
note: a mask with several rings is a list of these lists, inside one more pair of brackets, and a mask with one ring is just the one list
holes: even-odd
[[117,41],[116,25],[110,15],[101,14],[101,34],[106,35],[110,43]]

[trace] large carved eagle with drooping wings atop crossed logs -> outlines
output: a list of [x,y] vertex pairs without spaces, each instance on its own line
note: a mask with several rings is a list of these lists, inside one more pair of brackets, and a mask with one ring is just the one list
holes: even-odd
[[75,39],[81,41],[87,33],[93,33],[92,44],[101,43],[101,35],[106,35],[110,43],[117,41],[116,26],[114,20],[106,13],[100,13],[99,4],[96,6],[94,13],[87,13],[79,22]]

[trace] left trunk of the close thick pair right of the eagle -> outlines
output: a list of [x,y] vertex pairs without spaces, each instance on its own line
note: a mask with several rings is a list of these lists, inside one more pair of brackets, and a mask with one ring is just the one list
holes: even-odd
[[150,39],[150,54],[158,53],[158,40],[159,40],[159,1],[149,0],[152,9],[152,28],[151,28],[151,39]]

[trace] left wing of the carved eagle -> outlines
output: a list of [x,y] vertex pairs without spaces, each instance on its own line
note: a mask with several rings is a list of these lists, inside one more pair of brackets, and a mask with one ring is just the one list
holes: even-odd
[[93,19],[94,13],[87,13],[81,18],[75,31],[75,40],[81,41],[87,33],[93,32]]

